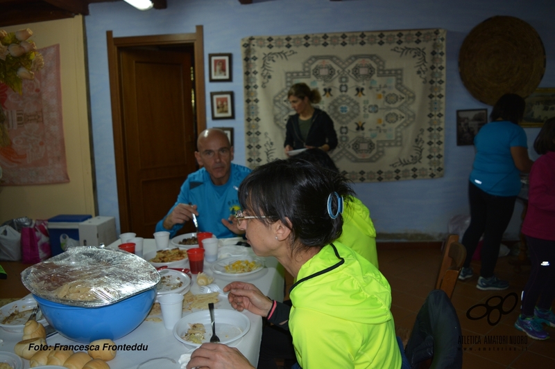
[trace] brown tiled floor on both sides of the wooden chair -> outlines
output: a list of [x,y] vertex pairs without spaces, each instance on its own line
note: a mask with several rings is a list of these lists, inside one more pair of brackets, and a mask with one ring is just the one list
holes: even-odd
[[[434,288],[436,273],[441,262],[441,251],[437,247],[392,249],[378,246],[379,269],[388,279],[392,289],[392,307],[395,325],[411,329],[418,310]],[[506,291],[480,291],[476,288],[479,262],[472,262],[475,276],[456,284],[452,303],[458,312],[463,336],[478,336],[481,344],[463,344],[463,368],[555,368],[555,328],[547,328],[552,339],[536,341],[529,339],[513,324],[520,313],[520,293],[529,276],[529,267],[522,267],[520,273],[509,264],[511,256],[499,258],[495,269],[499,278],[509,280],[511,287]],[[478,303],[486,303],[491,296],[506,296],[515,292],[519,301],[509,314],[501,316],[496,325],[489,325],[487,318],[472,321],[466,316],[467,310]],[[500,299],[490,300],[490,305]],[[513,298],[507,298],[504,310],[514,305]],[[555,307],[555,305],[554,305]],[[477,311],[478,312],[478,311]],[[478,312],[484,314],[485,310]],[[473,314],[478,316],[479,314]],[[495,313],[493,313],[495,314]],[[496,321],[498,315],[492,315]],[[524,339],[523,344],[484,344],[484,336],[497,339]],[[484,351],[486,348],[486,351]]]

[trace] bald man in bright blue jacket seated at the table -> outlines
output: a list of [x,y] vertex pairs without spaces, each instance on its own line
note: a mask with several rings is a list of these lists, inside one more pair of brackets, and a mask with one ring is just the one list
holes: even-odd
[[194,214],[200,232],[212,232],[218,238],[244,233],[233,215],[240,209],[237,190],[250,169],[231,163],[233,147],[221,129],[205,129],[196,146],[196,161],[203,168],[189,174],[176,204],[156,224],[156,232],[169,231],[173,237]]

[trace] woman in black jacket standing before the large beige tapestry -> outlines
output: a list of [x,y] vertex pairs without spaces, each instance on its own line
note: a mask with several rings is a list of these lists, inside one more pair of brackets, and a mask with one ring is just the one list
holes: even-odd
[[285,154],[291,150],[318,147],[325,152],[337,146],[334,122],[325,111],[312,104],[318,104],[322,97],[317,89],[310,89],[306,83],[296,83],[287,93],[291,107],[297,114],[287,120],[285,132]]

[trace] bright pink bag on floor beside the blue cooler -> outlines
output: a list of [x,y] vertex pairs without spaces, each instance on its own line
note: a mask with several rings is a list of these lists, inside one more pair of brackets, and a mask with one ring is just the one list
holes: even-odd
[[36,264],[50,258],[50,237],[46,220],[36,220],[33,226],[22,228],[22,262]]

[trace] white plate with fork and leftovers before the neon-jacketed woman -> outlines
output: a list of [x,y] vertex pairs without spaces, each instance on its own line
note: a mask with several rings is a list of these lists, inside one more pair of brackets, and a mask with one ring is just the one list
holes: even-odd
[[[250,320],[245,314],[228,309],[214,309],[214,321],[216,323],[216,335],[220,339],[220,343],[231,343],[237,341],[244,336],[250,329]],[[173,327],[173,336],[181,343],[198,347],[198,343],[185,341],[182,336],[185,336],[189,330],[189,323],[200,323],[204,325],[206,333],[204,341],[210,342],[212,337],[212,326],[210,325],[210,312],[203,310],[202,312],[195,312],[184,316]]]

